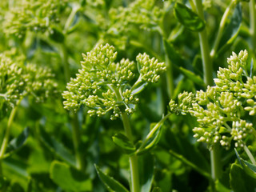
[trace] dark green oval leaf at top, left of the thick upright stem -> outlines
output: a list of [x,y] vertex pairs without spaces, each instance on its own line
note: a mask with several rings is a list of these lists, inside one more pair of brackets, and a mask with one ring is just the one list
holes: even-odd
[[182,25],[189,30],[201,31],[206,26],[205,22],[202,18],[199,18],[198,14],[179,2],[176,2],[174,6],[174,16],[178,19],[178,22],[181,22]]

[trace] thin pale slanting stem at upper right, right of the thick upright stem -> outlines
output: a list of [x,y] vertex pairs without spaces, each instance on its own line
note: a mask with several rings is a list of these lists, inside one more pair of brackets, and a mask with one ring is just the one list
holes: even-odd
[[218,45],[219,42],[221,41],[222,38],[222,34],[223,34],[223,30],[226,24],[226,20],[230,14],[230,11],[232,10],[233,6],[235,6],[237,4],[236,0],[233,0],[230,2],[230,5],[226,8],[223,16],[222,16],[222,20],[219,24],[219,28],[218,28],[218,33],[217,33],[217,37],[215,38],[215,42],[214,42],[214,47],[213,49],[210,51],[210,57],[214,58],[214,55],[216,54],[216,51],[218,49]]

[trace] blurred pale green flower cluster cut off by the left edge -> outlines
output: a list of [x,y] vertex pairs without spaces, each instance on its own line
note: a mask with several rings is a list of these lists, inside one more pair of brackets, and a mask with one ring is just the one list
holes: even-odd
[[1,113],[16,106],[26,96],[41,102],[57,91],[54,74],[49,69],[14,60],[10,55],[0,54],[0,109]]

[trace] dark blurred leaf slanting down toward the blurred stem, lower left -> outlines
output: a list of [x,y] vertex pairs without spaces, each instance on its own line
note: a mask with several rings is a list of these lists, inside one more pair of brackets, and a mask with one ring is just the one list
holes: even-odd
[[61,142],[58,142],[54,137],[47,134],[42,128],[40,129],[40,139],[58,157],[70,163],[72,166],[76,165],[74,156],[70,154],[70,151]]

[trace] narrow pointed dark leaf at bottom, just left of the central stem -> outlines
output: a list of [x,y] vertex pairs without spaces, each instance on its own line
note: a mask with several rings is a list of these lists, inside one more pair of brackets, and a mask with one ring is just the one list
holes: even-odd
[[126,187],[122,186],[120,182],[116,181],[114,178],[108,176],[107,174],[104,174],[98,166],[94,166],[97,170],[98,177],[101,178],[107,190],[109,190],[110,192],[129,192],[128,190],[126,190]]

